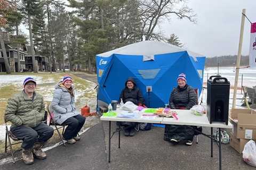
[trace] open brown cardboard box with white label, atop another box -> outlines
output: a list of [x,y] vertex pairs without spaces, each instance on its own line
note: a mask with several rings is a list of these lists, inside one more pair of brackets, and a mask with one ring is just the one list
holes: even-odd
[[230,123],[234,125],[234,137],[256,140],[256,111],[252,109],[231,109]]

